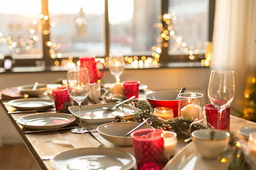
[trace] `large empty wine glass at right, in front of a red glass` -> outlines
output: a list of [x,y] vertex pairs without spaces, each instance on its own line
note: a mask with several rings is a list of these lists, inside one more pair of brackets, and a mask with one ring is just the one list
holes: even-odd
[[208,85],[210,103],[218,110],[218,130],[222,112],[230,106],[235,96],[234,72],[227,70],[212,70]]

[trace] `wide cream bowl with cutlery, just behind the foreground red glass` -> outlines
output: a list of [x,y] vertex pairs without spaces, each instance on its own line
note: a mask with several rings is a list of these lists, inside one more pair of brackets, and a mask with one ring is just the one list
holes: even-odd
[[[124,137],[130,130],[135,128],[139,123],[105,123],[97,127],[97,132],[107,141],[112,142],[114,145],[123,147],[132,146],[132,137]],[[149,125],[142,125],[139,129],[152,128]]]

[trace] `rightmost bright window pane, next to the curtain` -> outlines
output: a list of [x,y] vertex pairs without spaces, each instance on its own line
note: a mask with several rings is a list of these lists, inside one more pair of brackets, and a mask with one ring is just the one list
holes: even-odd
[[[208,1],[169,0],[169,55],[204,53],[208,40]],[[198,50],[196,50],[198,49]]]

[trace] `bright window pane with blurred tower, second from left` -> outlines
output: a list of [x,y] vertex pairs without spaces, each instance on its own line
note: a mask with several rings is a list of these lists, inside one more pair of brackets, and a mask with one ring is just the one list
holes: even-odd
[[48,6],[55,53],[105,55],[104,0],[49,0]]

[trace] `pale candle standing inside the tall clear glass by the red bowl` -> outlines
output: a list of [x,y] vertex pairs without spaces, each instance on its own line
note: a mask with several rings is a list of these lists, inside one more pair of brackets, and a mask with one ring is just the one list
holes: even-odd
[[194,104],[188,104],[187,106],[181,108],[181,116],[193,118],[193,120],[200,119],[200,109]]

